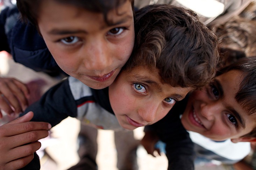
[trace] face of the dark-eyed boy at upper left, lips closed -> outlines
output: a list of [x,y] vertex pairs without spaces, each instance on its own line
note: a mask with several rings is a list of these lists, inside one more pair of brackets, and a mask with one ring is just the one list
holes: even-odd
[[134,45],[131,2],[103,14],[45,0],[38,27],[59,67],[84,84],[109,86],[128,60]]

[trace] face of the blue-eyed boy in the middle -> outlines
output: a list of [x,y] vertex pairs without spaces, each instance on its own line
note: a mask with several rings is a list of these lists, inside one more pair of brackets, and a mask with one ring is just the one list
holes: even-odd
[[121,71],[109,86],[109,100],[119,124],[129,130],[162,119],[190,88],[162,84],[156,68]]

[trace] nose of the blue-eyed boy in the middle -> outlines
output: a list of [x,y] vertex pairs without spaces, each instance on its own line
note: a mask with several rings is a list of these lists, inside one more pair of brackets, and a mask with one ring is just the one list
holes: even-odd
[[146,104],[141,106],[141,108],[138,109],[138,114],[142,117],[142,119],[147,122],[153,122],[157,116],[158,111],[158,103],[152,103],[148,102],[150,104]]

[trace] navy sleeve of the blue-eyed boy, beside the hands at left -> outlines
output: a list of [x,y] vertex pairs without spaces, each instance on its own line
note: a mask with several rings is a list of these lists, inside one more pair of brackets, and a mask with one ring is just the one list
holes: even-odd
[[30,105],[21,116],[28,111],[34,112],[31,121],[48,122],[52,126],[57,125],[67,116],[76,117],[76,101],[71,93],[68,79],[50,88],[39,101]]

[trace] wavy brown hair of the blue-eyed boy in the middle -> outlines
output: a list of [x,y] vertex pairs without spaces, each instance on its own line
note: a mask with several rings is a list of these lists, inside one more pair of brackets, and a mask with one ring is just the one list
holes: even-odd
[[217,39],[194,11],[166,4],[144,7],[136,13],[135,35],[123,70],[156,67],[173,87],[200,88],[215,76]]

